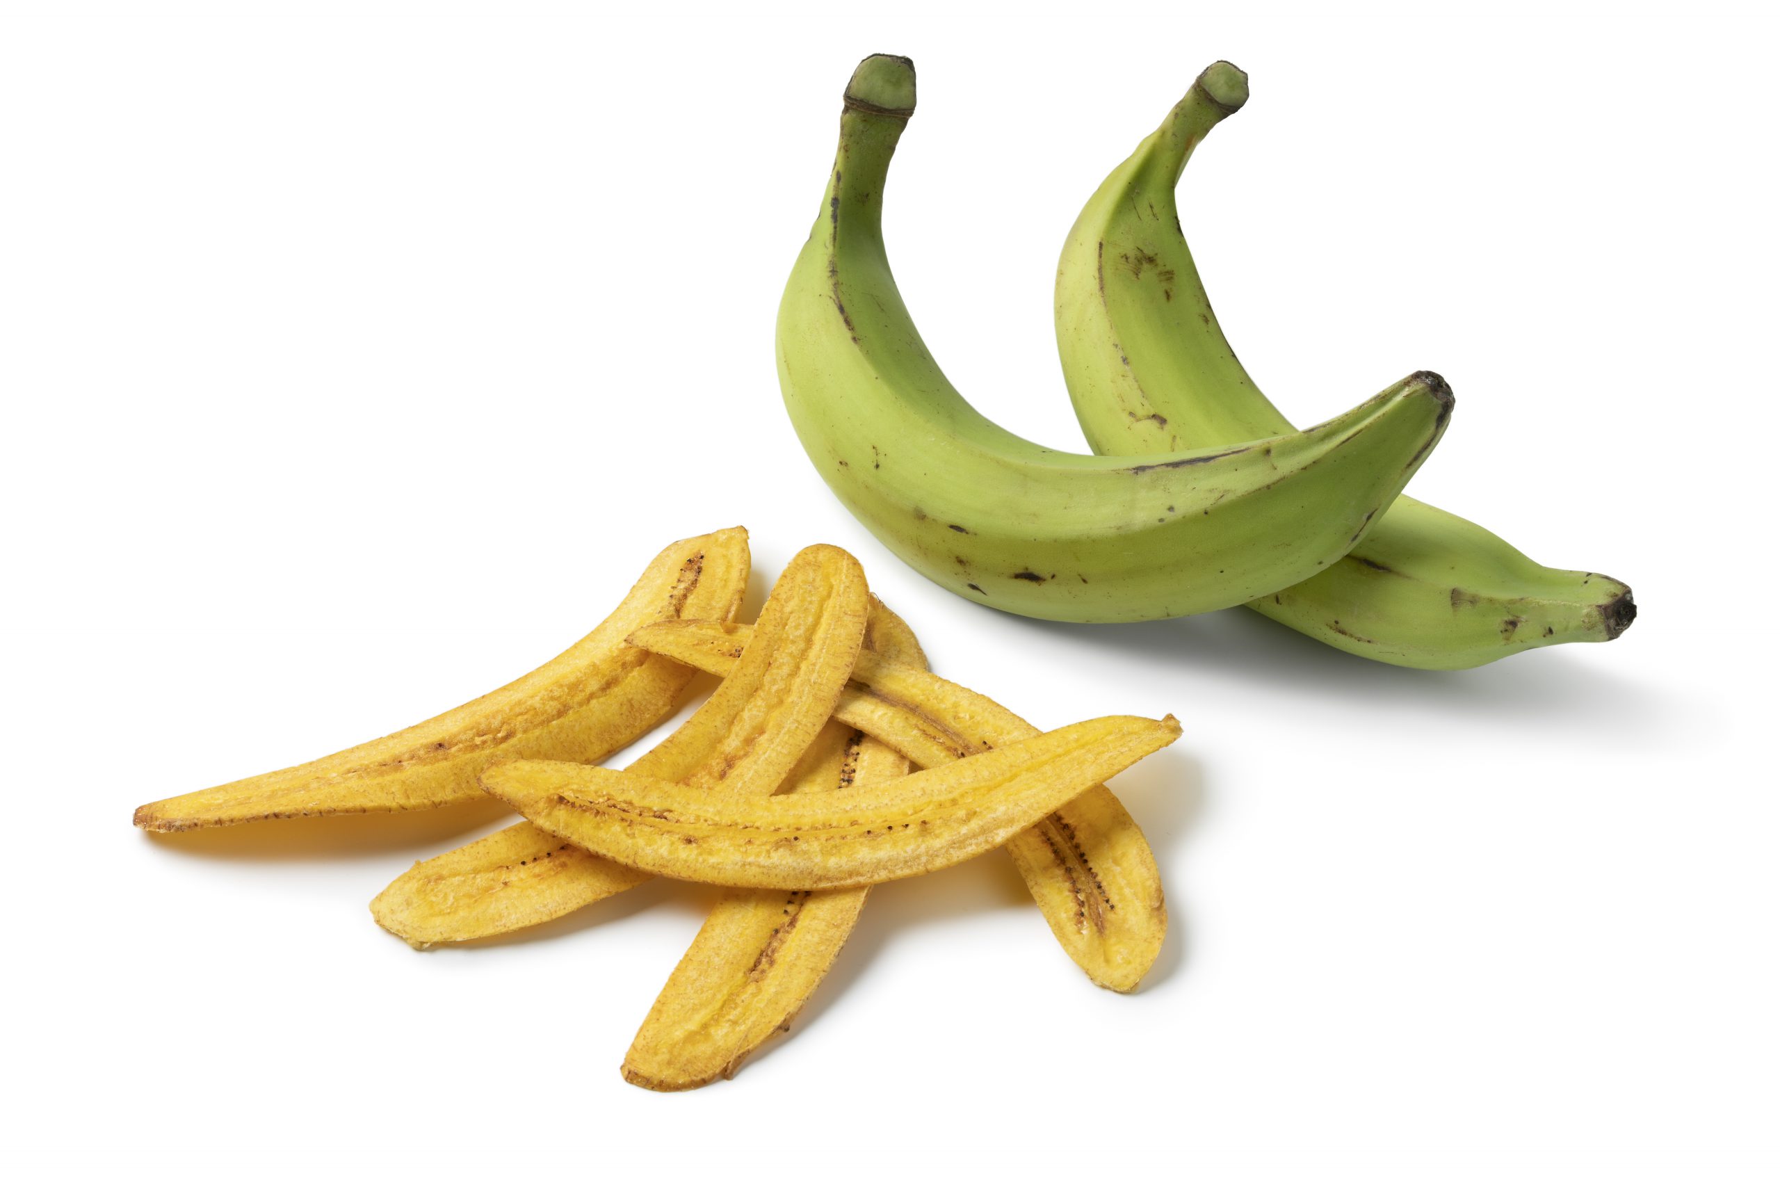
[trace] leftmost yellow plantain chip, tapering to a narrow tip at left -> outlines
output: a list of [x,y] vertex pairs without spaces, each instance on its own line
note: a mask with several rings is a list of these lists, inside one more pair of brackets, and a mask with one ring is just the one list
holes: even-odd
[[504,689],[376,742],[135,810],[155,833],[479,799],[506,758],[596,762],[666,717],[692,671],[625,641],[668,618],[728,619],[748,589],[748,530],[669,545],[593,634]]

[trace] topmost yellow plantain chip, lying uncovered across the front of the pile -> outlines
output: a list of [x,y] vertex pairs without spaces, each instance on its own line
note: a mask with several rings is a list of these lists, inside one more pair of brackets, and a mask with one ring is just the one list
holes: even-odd
[[482,787],[545,831],[621,865],[719,886],[826,890],[911,877],[993,849],[1177,737],[1173,717],[1096,717],[888,783],[764,801],[539,760],[491,767]]

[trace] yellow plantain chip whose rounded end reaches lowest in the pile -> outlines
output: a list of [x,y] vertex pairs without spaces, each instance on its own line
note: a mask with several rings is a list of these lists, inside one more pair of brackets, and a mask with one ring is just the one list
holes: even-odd
[[[904,664],[927,662],[915,632],[878,598],[865,644]],[[778,794],[869,787],[904,774],[908,758],[829,719]],[[625,1055],[625,1078],[671,1093],[735,1075],[755,1048],[790,1027],[847,941],[867,892],[726,892],[643,1020]]]

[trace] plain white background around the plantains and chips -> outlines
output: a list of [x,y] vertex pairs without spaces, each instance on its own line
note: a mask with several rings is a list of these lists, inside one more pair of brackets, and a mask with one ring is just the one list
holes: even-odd
[[[1773,21],[151,7],[0,25],[5,1160],[1775,1182]],[[920,68],[892,258],[983,411],[1080,447],[1063,235],[1228,57],[1253,100],[1182,214],[1260,384],[1305,424],[1440,370],[1415,493],[1643,618],[1433,674],[913,575],[769,345],[878,50]],[[1114,781],[1173,913],[1141,993],[990,854],[878,892],[789,1041],[657,1096],[618,1062],[703,892],[417,954],[365,904],[493,813],[130,828],[504,683],[737,521],[749,612],[829,541],[1040,724],[1180,715]]]

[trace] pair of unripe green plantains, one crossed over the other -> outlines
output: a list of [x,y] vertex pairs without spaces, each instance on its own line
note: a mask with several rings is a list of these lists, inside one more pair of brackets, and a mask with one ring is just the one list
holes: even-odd
[[1415,372],[1296,431],[1225,340],[1180,230],[1193,146],[1248,100],[1207,68],[1082,208],[1057,267],[1057,351],[1093,454],[977,413],[890,274],[883,194],[915,66],[872,55],[778,315],[780,388],[822,479],[879,541],[952,593],[1029,618],[1127,623],[1248,605],[1403,667],[1476,667],[1616,639],[1632,591],[1552,569],[1403,495],[1452,392]]

